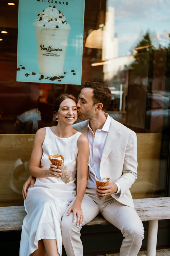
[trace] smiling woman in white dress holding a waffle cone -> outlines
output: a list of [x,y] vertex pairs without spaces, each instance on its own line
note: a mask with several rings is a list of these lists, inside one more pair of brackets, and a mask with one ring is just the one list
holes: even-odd
[[[68,215],[73,211],[73,222],[83,222],[81,202],[87,185],[88,140],[72,128],[77,119],[74,96],[58,97],[54,109],[57,126],[39,129],[34,139],[30,174],[36,177],[36,182],[28,189],[24,201],[27,215],[23,220],[20,256],[61,256],[60,222],[74,197]],[[60,169],[49,161],[51,151],[63,155],[64,166],[72,172],[69,183],[61,180]]]

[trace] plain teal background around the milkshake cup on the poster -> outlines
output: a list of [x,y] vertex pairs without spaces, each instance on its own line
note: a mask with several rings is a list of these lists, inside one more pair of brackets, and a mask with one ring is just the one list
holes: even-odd
[[[81,84],[84,4],[85,0],[19,0],[17,81]],[[49,5],[55,5],[57,10],[64,14],[71,27],[63,66],[62,76],[64,78],[59,79],[58,74],[56,74],[58,79],[55,80],[50,80],[54,76],[46,75],[41,79],[38,68],[36,31],[35,26],[33,26],[33,23],[38,19],[37,14],[40,14]],[[47,77],[49,78],[45,79]]]

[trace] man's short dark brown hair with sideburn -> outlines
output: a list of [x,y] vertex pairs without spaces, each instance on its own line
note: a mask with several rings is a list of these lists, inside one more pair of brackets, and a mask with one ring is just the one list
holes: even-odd
[[102,103],[102,111],[107,109],[108,104],[111,101],[112,94],[108,86],[99,82],[84,82],[83,88],[93,89],[93,105],[96,103]]

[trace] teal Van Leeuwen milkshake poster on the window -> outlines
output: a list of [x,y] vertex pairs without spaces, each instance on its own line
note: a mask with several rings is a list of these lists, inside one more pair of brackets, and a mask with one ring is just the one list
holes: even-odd
[[85,0],[19,0],[17,81],[81,84]]

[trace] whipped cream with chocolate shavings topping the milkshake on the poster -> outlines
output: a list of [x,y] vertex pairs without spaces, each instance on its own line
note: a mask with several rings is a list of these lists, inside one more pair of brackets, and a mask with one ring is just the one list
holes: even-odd
[[55,5],[53,7],[49,5],[37,15],[38,19],[33,23],[35,27],[70,30],[70,25],[67,23],[66,17],[60,10],[57,10]]

